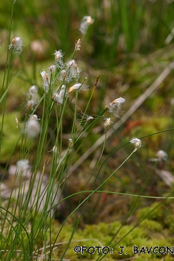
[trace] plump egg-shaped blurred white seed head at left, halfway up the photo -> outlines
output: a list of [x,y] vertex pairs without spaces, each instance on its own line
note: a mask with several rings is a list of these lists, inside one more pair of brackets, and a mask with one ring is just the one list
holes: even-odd
[[29,136],[29,138],[35,138],[40,134],[40,124],[38,122],[38,119],[30,119],[28,122],[26,122],[26,135]]

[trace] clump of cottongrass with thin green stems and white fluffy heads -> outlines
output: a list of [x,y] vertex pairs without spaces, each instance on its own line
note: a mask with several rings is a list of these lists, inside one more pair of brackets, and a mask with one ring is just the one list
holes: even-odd
[[[13,2],[13,8],[15,8],[15,1]],[[13,21],[13,8],[11,24]],[[102,163],[107,131],[113,124],[113,121],[120,117],[121,106],[124,104],[125,98],[114,97],[113,101],[103,107],[103,111],[101,111],[98,116],[88,113],[93,94],[97,91],[96,86],[100,80],[100,76],[96,76],[97,80],[91,88],[91,86],[88,85],[88,79],[81,77],[81,68],[78,67],[75,58],[77,52],[83,48],[84,36],[88,31],[88,26],[91,26],[93,22],[94,19],[89,15],[82,19],[81,25],[79,26],[82,37],[75,42],[74,52],[72,52],[68,61],[65,61],[64,50],[53,50],[54,60],[52,64],[49,68],[40,68],[42,86],[32,85],[26,93],[24,119],[21,120],[17,118],[17,116],[14,118],[14,124],[18,130],[18,139],[8,157],[8,163],[1,178],[1,189],[3,187],[3,178],[5,177],[6,171],[8,171],[8,164],[10,164],[10,159],[17,150],[18,144],[20,144],[20,148],[13,169],[13,181],[10,191],[8,191],[8,195],[1,195],[1,260],[65,260],[65,255],[70,248],[70,244],[75,242],[73,241],[73,237],[86,211],[86,205],[90,197],[93,196],[94,193],[101,193],[102,186],[136,153],[136,150],[142,147],[141,139],[130,139],[127,143],[134,145],[132,153],[130,153],[125,161],[123,161],[100,186],[96,185],[97,177],[100,175],[102,166],[104,166],[104,162],[106,161]],[[3,108],[0,148],[3,146],[3,139],[6,139],[3,138],[3,122],[4,118],[6,118],[8,90],[19,75],[18,73],[13,81],[9,83],[10,70],[13,70],[13,65],[10,61],[12,56],[22,56],[22,53],[25,52],[23,40],[19,38],[19,36],[11,39],[10,35],[11,27],[7,47],[6,68],[0,97],[0,103]],[[82,109],[79,109],[79,93],[83,95],[86,91],[90,92],[90,96],[83,112]],[[71,113],[69,127],[71,131],[65,147],[63,144],[63,131],[67,113]],[[53,116],[54,127],[52,131],[50,131],[50,122]],[[70,166],[77,160],[83,144],[93,135],[93,127],[97,122],[102,122],[105,139],[95,167],[84,189],[80,193],[78,192],[67,198],[63,198],[66,182],[70,176]],[[114,150],[109,157],[127,145],[127,143]],[[49,175],[47,176],[46,173],[48,172]],[[95,177],[93,186],[90,191],[88,191],[88,183],[93,177]],[[150,176],[147,182],[149,179]],[[141,192],[143,192],[143,189],[144,188],[141,189]],[[88,196],[84,199],[84,195],[86,195],[87,192]],[[109,191],[107,191],[107,193],[109,193]],[[80,194],[79,204],[65,217],[55,235],[53,224],[56,212],[61,212],[66,200],[77,194]],[[137,202],[142,195],[136,196]],[[166,198],[168,197],[169,195]],[[134,210],[136,202],[132,205],[122,226],[124,226]],[[157,207],[154,207],[152,211],[156,208]],[[142,221],[146,219],[151,212],[147,213]],[[68,242],[65,243],[66,246],[61,256],[56,256],[55,251],[61,244],[58,240],[61,237],[62,230],[66,226],[66,222],[71,216],[74,218],[74,224],[70,232],[70,237]],[[134,228],[139,226],[139,223],[141,223],[141,221],[136,223]],[[108,246],[116,239],[122,226],[118,228],[111,241],[108,242]],[[122,239],[132,232],[134,228],[130,229]],[[119,242],[120,241],[118,241],[118,243]],[[115,244],[115,246],[117,244]],[[103,256],[101,256],[99,260],[102,258]]]

